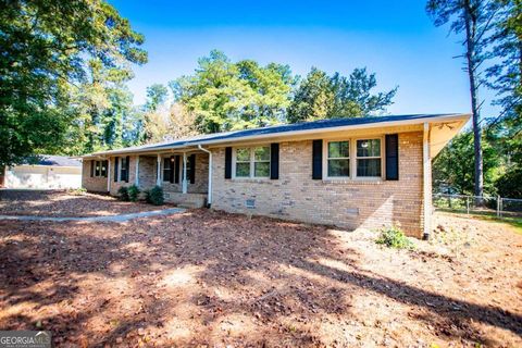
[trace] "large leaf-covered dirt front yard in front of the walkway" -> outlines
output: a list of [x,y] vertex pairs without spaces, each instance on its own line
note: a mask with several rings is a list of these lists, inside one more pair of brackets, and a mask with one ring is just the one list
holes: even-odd
[[59,347],[521,347],[520,229],[436,220],[414,251],[209,210],[0,221],[0,330]]

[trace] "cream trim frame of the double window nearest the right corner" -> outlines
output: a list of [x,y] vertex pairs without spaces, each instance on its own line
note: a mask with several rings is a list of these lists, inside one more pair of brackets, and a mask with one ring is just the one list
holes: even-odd
[[[381,176],[357,176],[357,140],[381,140]],[[328,144],[336,141],[348,141],[349,151],[350,151],[350,175],[349,176],[328,176]],[[371,157],[370,159],[372,159]],[[362,159],[362,158],[361,158]],[[364,158],[369,159],[369,158]],[[375,157],[377,159],[377,157]],[[355,137],[355,138],[331,138],[323,139],[323,179],[326,181],[355,181],[355,182],[382,182],[384,181],[384,170],[385,170],[385,156],[384,156],[384,136],[371,136],[371,137]]]

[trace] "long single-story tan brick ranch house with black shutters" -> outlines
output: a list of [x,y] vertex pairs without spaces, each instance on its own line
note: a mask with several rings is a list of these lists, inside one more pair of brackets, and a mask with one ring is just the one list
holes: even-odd
[[431,161],[469,114],[337,119],[236,130],[83,157],[83,186],[162,186],[185,207],[355,229],[400,223],[427,237]]

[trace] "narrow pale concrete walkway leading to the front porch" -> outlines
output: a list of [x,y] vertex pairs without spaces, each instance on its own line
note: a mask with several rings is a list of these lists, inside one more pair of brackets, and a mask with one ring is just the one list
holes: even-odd
[[183,213],[186,209],[183,208],[170,208],[163,210],[153,210],[153,211],[144,211],[139,213],[132,214],[121,214],[121,215],[108,215],[108,216],[88,216],[88,217],[54,217],[54,216],[32,216],[32,215],[0,215],[0,220],[17,220],[17,221],[53,221],[53,222],[65,222],[65,221],[83,221],[83,222],[126,222],[133,219],[138,217],[149,217],[157,215],[169,215]]

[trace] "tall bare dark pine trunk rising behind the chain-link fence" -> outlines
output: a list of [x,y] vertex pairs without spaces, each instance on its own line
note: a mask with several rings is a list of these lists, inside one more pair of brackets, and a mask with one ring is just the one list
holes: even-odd
[[475,152],[475,196],[483,196],[484,194],[484,176],[482,167],[482,132],[480,124],[480,111],[477,102],[476,90],[476,20],[470,4],[470,0],[464,0],[464,22],[465,22],[465,58],[468,61],[468,76],[470,78],[470,94],[471,94],[471,113],[473,115],[473,145]]

